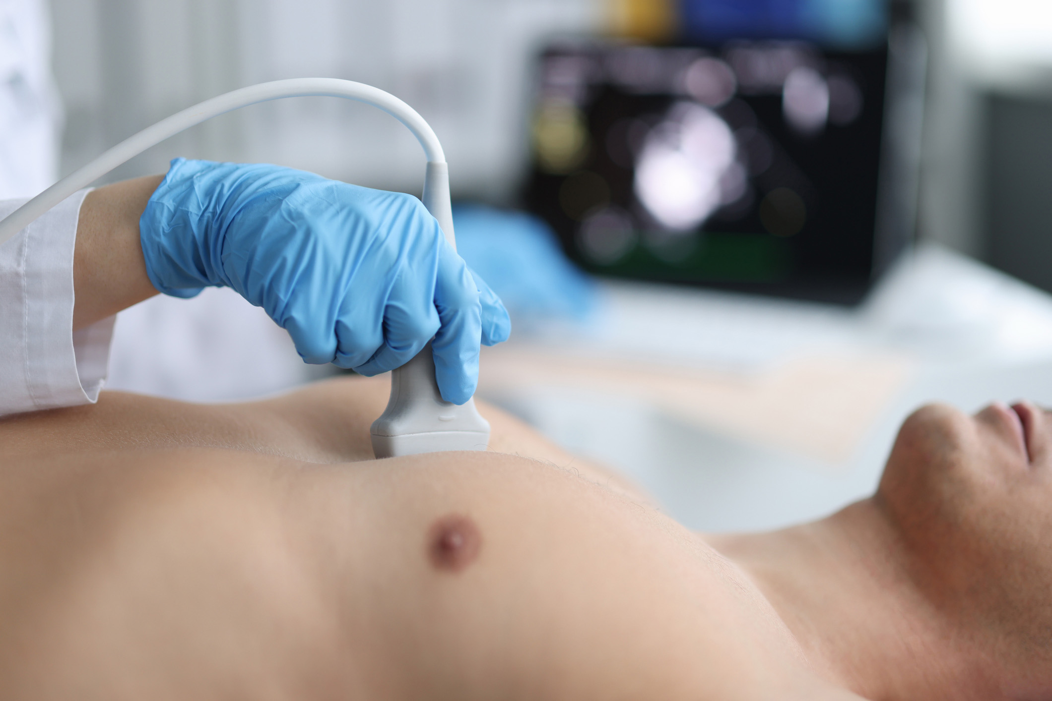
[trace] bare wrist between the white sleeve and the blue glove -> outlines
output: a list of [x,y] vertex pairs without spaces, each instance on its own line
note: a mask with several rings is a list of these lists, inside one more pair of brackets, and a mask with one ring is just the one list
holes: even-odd
[[74,249],[74,330],[157,294],[146,275],[139,217],[163,179],[126,180],[84,198]]

